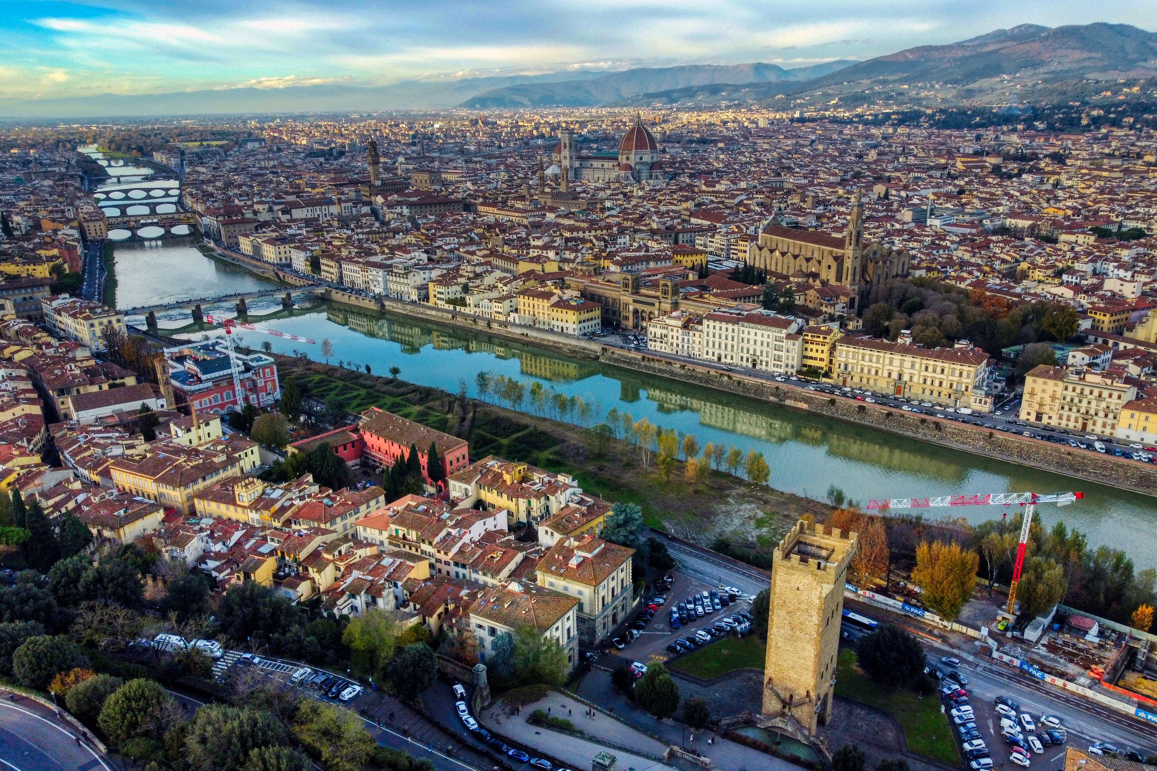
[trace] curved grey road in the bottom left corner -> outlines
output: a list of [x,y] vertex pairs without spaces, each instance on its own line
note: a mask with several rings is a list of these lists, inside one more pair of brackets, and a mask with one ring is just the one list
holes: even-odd
[[29,699],[0,702],[0,771],[112,771],[76,731]]

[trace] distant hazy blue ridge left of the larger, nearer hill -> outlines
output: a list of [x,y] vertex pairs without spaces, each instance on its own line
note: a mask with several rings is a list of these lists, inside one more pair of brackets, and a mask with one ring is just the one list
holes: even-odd
[[588,80],[518,83],[482,91],[459,106],[479,110],[561,105],[589,108],[635,94],[694,88],[714,83],[769,83],[799,81],[826,75],[856,62],[830,61],[811,67],[783,69],[778,65],[686,65],[681,67],[640,67]]

